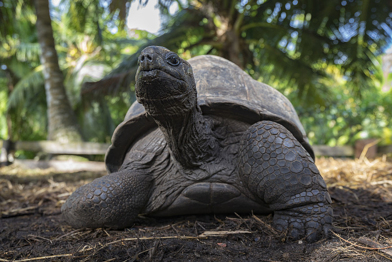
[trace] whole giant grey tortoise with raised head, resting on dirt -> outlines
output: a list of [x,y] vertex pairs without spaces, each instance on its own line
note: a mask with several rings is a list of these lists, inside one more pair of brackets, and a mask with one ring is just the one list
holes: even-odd
[[331,198],[293,105],[213,55],[163,47],[139,56],[137,102],[112,137],[108,175],[61,211],[73,227],[125,228],[140,214],[273,212],[293,239],[332,224]]

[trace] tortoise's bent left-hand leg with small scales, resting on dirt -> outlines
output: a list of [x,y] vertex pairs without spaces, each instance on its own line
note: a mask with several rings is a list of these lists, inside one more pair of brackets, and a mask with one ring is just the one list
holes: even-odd
[[63,217],[75,228],[125,228],[145,207],[151,175],[122,170],[76,189],[61,207]]

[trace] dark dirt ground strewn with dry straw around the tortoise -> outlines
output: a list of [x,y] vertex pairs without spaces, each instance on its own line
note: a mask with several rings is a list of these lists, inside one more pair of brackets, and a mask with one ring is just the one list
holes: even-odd
[[319,158],[334,224],[327,239],[291,241],[256,214],[139,217],[123,231],[66,225],[60,207],[102,173],[0,168],[0,262],[392,261],[392,160]]

